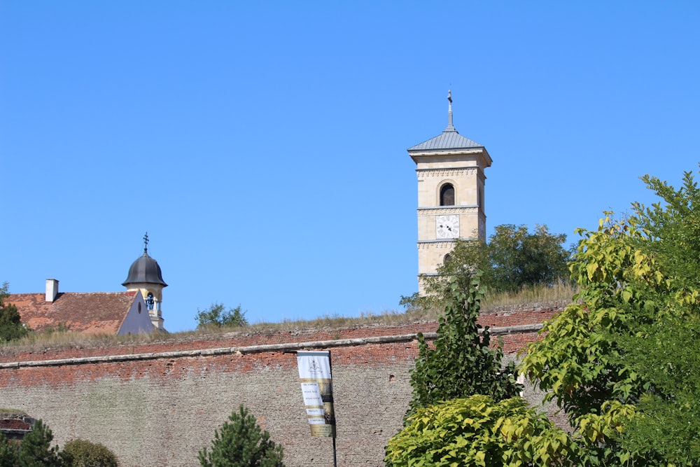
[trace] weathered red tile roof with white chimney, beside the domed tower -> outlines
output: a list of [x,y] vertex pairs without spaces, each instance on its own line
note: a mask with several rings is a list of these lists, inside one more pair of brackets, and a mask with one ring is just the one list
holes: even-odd
[[45,293],[10,293],[6,303],[20,312],[22,323],[43,331],[68,326],[80,333],[116,334],[136,299],[137,291],[59,293],[53,302]]

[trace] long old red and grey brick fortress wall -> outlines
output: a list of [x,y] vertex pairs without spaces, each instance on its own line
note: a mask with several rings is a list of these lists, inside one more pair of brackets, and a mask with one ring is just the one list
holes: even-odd
[[[559,306],[483,314],[514,357]],[[43,419],[55,442],[84,438],[123,467],[197,466],[214,429],[246,405],[281,442],[287,466],[332,465],[332,440],[309,433],[295,354],[329,349],[337,416],[337,465],[383,466],[411,396],[416,333],[435,322],[295,330],[269,335],[165,337],[148,344],[0,354],[0,407]],[[536,398],[528,390],[526,397]]]

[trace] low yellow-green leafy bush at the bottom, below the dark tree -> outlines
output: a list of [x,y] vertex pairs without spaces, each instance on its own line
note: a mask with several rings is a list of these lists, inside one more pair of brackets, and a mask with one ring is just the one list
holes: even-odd
[[576,445],[522,398],[475,395],[416,410],[386,446],[388,467],[571,466]]

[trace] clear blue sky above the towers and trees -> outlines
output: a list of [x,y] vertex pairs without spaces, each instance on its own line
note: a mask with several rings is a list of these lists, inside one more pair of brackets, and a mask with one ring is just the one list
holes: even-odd
[[399,309],[406,149],[488,149],[489,233],[575,242],[697,171],[694,1],[0,0],[0,282],[120,291],[149,252],[165,326]]

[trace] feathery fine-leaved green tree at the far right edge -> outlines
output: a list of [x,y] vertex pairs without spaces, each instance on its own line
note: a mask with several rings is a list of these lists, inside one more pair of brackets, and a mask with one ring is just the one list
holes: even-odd
[[[677,466],[700,465],[700,190],[686,172],[676,190],[643,177],[662,202],[633,204],[636,251],[654,260],[663,278],[647,288],[645,306],[631,314],[633,333],[613,330],[626,363],[647,387],[637,416],[621,434],[622,446],[645,459]],[[639,284],[641,288],[643,284]],[[650,292],[655,292],[652,294]],[[638,300],[638,299],[637,299]]]

